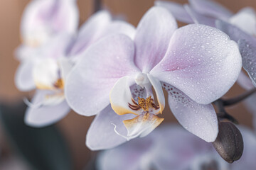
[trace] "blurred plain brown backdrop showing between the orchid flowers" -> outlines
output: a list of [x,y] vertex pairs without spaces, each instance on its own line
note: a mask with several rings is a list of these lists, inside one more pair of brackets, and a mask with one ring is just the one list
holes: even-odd
[[[20,43],[19,39],[19,24],[23,8],[28,4],[29,0],[1,0],[0,1],[0,100],[14,102],[21,100],[23,96],[31,96],[33,92],[22,93],[16,89],[14,85],[14,74],[18,67],[18,61],[14,59],[14,50]],[[176,0],[178,3],[186,3],[185,0]],[[231,11],[238,11],[245,6],[256,8],[255,0],[218,0],[220,4],[230,8]],[[137,26],[143,14],[154,4],[154,0],[102,0],[104,6],[110,9],[114,14],[122,14],[126,16],[127,21]],[[78,0],[80,8],[80,21],[83,23],[93,12],[93,0]],[[183,26],[180,23],[180,26]],[[213,82],[214,83],[214,82]],[[235,85],[226,95],[227,97],[241,94],[243,90]],[[237,118],[240,124],[245,124],[252,127],[252,116],[242,103],[234,108],[229,108],[228,112]],[[165,109],[164,122],[176,122],[174,116],[170,113],[169,108]],[[93,117],[82,117],[71,112],[66,118],[57,123],[60,130],[68,140],[68,145],[71,149],[71,156],[75,163],[74,169],[82,169],[89,162],[90,157],[95,152],[90,152],[85,146],[85,135],[89,128]],[[1,155],[14,155],[14,149],[6,140],[6,135],[0,129],[0,146],[2,148]],[[8,163],[8,162],[7,162]],[[6,162],[4,163],[6,164]],[[11,164],[14,164],[12,162]],[[16,164],[18,164],[16,162]],[[25,165],[24,165],[25,166]],[[0,169],[3,168],[1,163]],[[18,165],[19,168],[21,166]],[[4,168],[6,169],[6,168]]]

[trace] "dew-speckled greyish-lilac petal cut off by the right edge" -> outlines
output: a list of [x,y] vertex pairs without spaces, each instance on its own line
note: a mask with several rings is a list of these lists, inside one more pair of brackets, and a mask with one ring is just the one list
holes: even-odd
[[256,86],[256,45],[246,40],[239,40],[238,45],[242,55],[242,67],[248,73],[252,84]]

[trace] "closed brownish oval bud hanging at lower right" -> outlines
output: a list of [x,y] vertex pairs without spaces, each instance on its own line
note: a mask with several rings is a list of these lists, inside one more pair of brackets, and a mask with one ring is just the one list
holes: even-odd
[[241,132],[233,123],[220,122],[218,137],[213,142],[213,147],[226,162],[237,161],[242,156],[243,151]]

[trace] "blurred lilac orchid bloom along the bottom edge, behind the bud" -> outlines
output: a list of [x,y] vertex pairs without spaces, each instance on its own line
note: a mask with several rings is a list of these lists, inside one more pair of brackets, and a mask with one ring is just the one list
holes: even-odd
[[221,159],[210,143],[191,135],[178,125],[164,125],[144,138],[100,152],[97,169],[255,169],[255,133],[243,127],[240,130],[245,143],[244,153],[233,164]]

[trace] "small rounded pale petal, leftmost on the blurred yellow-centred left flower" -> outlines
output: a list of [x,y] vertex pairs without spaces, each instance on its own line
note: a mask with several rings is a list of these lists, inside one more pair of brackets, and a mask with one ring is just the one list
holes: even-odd
[[19,90],[31,91],[32,89],[36,88],[32,74],[34,64],[34,60],[25,60],[18,66],[15,75],[15,84]]

